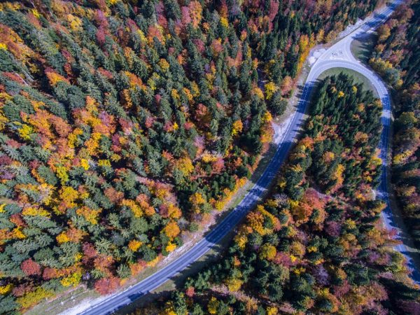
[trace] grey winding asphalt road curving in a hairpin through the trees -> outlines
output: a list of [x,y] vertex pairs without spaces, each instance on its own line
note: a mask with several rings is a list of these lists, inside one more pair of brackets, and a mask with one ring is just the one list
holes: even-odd
[[[387,187],[387,158],[386,154],[388,151],[388,142],[389,142],[389,135],[390,135],[390,127],[391,127],[391,102],[390,102],[390,95],[388,94],[384,83],[381,81],[379,76],[375,73],[367,69],[367,67],[363,66],[355,57],[351,54],[350,45],[351,41],[357,36],[366,33],[370,29],[374,29],[378,25],[380,25],[386,18],[391,15],[395,6],[402,2],[402,0],[393,1],[391,5],[382,8],[374,15],[371,15],[370,18],[367,18],[355,31],[351,32],[350,34],[346,35],[344,38],[339,40],[337,43],[332,45],[328,50],[325,50],[323,54],[318,57],[316,62],[311,66],[311,71],[309,72],[309,76],[307,78],[306,83],[304,84],[304,88],[302,90],[302,95],[300,97],[300,101],[297,104],[297,109],[293,113],[292,118],[289,120],[288,127],[286,132],[283,134],[283,139],[279,142],[279,146],[276,150],[276,153],[272,160],[269,162],[267,169],[262,174],[260,179],[258,179],[257,183],[251,188],[248,194],[244,197],[244,199],[240,202],[240,204],[233,209],[228,216],[226,216],[223,221],[214,228],[209,234],[204,237],[201,241],[199,241],[195,246],[190,248],[189,251],[183,253],[179,258],[174,260],[173,262],[169,263],[169,265],[163,267],[155,274],[152,274],[148,278],[140,281],[139,283],[127,288],[126,290],[121,291],[120,293],[116,293],[114,295],[110,295],[106,300],[102,302],[98,302],[93,304],[88,309],[85,309],[80,314],[85,315],[99,315],[99,314],[110,314],[113,311],[117,311],[118,309],[125,307],[127,304],[132,303],[137,298],[141,297],[142,295],[146,295],[147,293],[155,290],[167,280],[174,277],[179,272],[186,269],[189,265],[193,264],[196,260],[198,260],[202,255],[207,253],[215,244],[218,243],[232,228],[235,227],[241,221],[242,218],[255,207],[255,204],[260,200],[260,196],[264,191],[268,188],[269,184],[276,176],[276,173],[279,171],[282,163],[286,159],[288,152],[290,151],[290,147],[293,145],[293,141],[297,136],[297,132],[302,125],[304,120],[304,112],[307,109],[307,105],[309,104],[309,95],[311,93],[314,84],[318,76],[321,75],[325,70],[331,68],[347,68],[354,71],[357,71],[366,78],[368,78],[372,85],[374,85],[375,89],[379,94],[379,98],[383,104],[383,113],[382,113],[382,124],[384,126],[381,139],[379,143],[379,148],[381,150],[382,159],[382,175],[381,175],[381,183],[377,190],[377,196],[386,202],[387,207],[383,211],[383,221],[386,228],[389,230],[396,229],[397,230],[397,237],[402,234],[401,230],[398,228],[398,225],[395,224],[394,216],[391,211],[390,201],[388,198],[388,187]],[[407,258],[408,265],[412,272],[412,279],[416,283],[420,283],[420,274],[417,269],[414,268],[414,262],[411,256],[408,254],[407,248],[404,244],[400,244],[395,246],[395,250],[400,251],[405,257]],[[94,303],[94,301],[92,301]]]

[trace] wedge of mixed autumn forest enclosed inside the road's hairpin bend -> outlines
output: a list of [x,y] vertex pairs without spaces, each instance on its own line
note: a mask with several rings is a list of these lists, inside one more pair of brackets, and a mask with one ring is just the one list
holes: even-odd
[[420,291],[372,194],[380,118],[351,76],[322,80],[278,183],[225,255],[136,314],[417,314]]

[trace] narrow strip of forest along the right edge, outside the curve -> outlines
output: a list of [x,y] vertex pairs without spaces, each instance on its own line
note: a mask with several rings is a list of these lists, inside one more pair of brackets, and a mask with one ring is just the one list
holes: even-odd
[[393,87],[393,185],[420,248],[420,3],[398,7],[378,29],[370,65]]

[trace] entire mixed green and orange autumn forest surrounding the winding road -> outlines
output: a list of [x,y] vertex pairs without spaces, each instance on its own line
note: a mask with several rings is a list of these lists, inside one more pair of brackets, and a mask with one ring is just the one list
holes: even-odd
[[[0,3],[0,314],[155,267],[251,179],[314,46],[377,0]],[[420,248],[419,22],[369,64],[392,89],[392,181]],[[215,264],[139,314],[419,314],[380,224],[381,102],[321,80],[266,200]]]

